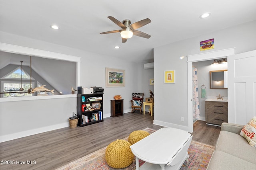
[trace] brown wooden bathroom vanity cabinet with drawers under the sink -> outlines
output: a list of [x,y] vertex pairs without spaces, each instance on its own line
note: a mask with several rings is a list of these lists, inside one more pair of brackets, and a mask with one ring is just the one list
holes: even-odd
[[205,115],[208,124],[228,122],[228,102],[205,101]]

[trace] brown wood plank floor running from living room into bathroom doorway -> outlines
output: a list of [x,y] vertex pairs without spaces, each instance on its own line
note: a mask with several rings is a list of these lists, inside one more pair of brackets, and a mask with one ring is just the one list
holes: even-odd
[[[2,165],[1,170],[52,170],[59,168],[106,147],[116,139],[127,137],[132,131],[146,127],[160,129],[153,125],[148,114],[126,113],[119,117],[108,117],[104,122],[85,127],[69,127],[31,135],[0,143],[0,160],[14,160],[14,165]],[[205,125],[204,121],[194,123],[193,140],[215,145],[220,127]],[[27,161],[36,164],[27,164]],[[18,164],[26,162],[25,164]]]

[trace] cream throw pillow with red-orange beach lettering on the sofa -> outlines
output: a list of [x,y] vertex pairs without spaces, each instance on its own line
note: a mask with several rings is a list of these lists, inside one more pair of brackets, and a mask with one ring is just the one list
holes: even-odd
[[254,116],[241,130],[240,135],[244,137],[249,145],[256,147],[256,116]]

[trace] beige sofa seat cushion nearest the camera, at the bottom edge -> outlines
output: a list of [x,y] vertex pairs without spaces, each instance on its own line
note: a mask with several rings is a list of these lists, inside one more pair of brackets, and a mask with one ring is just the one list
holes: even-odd
[[256,170],[256,165],[236,156],[215,150],[207,170]]

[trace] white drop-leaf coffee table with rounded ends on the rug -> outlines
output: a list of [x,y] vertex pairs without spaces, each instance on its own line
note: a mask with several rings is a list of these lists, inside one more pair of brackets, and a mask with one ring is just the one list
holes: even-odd
[[[188,158],[192,135],[164,127],[130,146],[136,156],[136,170],[178,170]],[[139,167],[139,159],[145,163]]]

